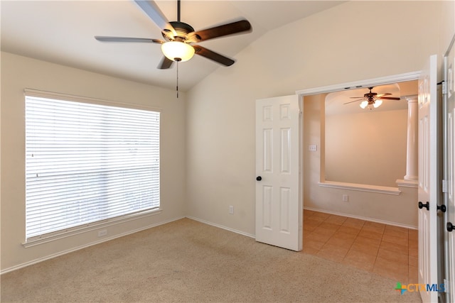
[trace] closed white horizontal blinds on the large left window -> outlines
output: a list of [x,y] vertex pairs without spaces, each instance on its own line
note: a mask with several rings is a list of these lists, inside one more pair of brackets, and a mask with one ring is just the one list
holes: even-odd
[[26,238],[160,206],[160,113],[26,96]]

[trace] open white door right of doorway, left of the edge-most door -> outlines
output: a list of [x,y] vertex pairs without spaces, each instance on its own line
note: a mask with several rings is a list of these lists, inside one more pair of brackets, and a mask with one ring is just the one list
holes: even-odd
[[[437,281],[437,56],[419,77],[419,284]],[[421,291],[422,302],[437,302],[437,292]]]

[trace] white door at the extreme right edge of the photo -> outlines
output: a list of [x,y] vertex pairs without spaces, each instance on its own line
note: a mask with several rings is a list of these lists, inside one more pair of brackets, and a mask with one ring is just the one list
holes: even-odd
[[446,264],[446,301],[455,302],[455,48],[454,39],[444,57],[444,80],[446,82],[446,105],[444,106],[444,204],[446,226],[444,231]]

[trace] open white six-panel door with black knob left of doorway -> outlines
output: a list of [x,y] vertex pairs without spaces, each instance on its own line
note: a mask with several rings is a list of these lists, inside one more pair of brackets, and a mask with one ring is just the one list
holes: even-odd
[[256,101],[256,241],[302,249],[299,96]]

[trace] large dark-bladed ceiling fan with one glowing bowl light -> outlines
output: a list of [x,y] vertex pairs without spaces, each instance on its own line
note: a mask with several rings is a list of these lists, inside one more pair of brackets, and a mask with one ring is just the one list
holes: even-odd
[[219,38],[225,35],[245,33],[251,31],[251,24],[247,20],[226,23],[202,31],[194,31],[193,27],[180,21],[180,0],[177,0],[178,21],[169,22],[154,1],[134,0],[146,13],[151,21],[161,28],[164,40],[152,38],[108,37],[96,35],[95,39],[102,42],[127,42],[127,43],[159,43],[164,54],[158,68],[168,69],[173,62],[190,60],[194,54],[206,57],[221,65],[230,66],[234,60],[200,45],[193,45],[205,40]]

